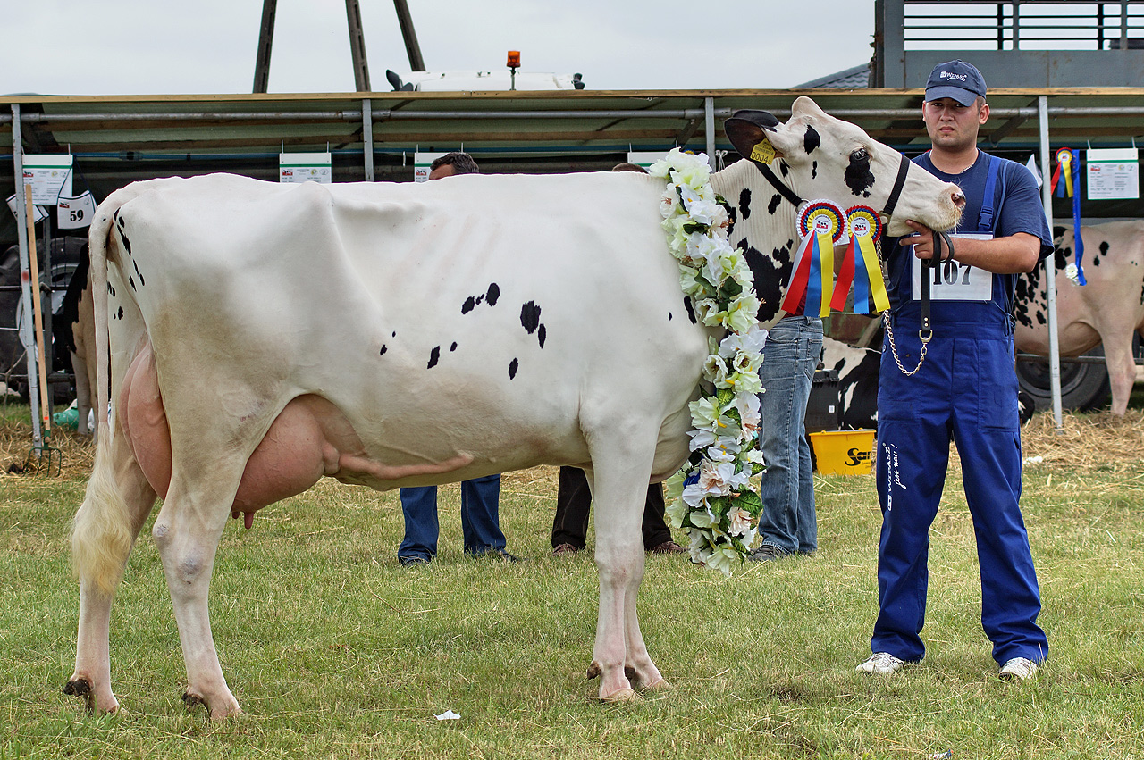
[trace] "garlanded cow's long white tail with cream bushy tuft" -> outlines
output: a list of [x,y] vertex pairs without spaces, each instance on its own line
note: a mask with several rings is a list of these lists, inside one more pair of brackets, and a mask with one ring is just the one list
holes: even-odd
[[84,504],[72,521],[72,568],[80,582],[111,594],[122,577],[134,535],[132,518],[116,480],[108,400],[111,398],[111,351],[108,335],[108,241],[116,211],[133,193],[108,197],[88,233],[92,297],[95,305],[95,465]]

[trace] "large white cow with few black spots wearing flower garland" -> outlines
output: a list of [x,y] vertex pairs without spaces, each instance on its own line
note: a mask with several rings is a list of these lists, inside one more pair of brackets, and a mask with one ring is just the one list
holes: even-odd
[[[765,134],[805,198],[877,207],[895,182],[897,152],[809,99]],[[761,183],[748,162],[716,178],[732,202]],[[228,515],[249,526],[323,475],[388,489],[537,464],[582,467],[593,487],[601,698],[665,686],[636,617],[639,520],[648,483],[688,456],[710,330],[682,296],[662,187],[633,173],[326,186],[213,175],[110,195],[90,239],[114,424],[100,423],[76,515],[65,690],[118,707],[111,601],[157,495],[185,699],[223,718],[240,710],[207,592]],[[890,226],[947,229],[960,200],[909,169]],[[739,224],[756,250],[795,237],[793,208]],[[105,367],[105,343],[98,353]]]

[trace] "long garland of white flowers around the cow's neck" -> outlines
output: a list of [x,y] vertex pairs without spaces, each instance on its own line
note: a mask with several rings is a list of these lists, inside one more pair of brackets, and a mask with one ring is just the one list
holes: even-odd
[[758,366],[766,330],[758,326],[754,278],[728,242],[729,216],[710,185],[707,157],[673,149],[649,169],[667,181],[659,210],[680,285],[696,317],[723,327],[708,338],[700,395],[690,405],[691,457],[667,481],[667,514],[691,537],[691,559],[730,575],[755,541],[763,502],[749,483],[763,471],[758,450]]

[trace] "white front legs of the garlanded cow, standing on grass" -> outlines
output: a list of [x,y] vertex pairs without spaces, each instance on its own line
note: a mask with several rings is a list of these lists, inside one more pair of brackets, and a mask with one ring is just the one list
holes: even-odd
[[615,435],[622,450],[593,448],[589,475],[596,503],[596,567],[599,570],[599,618],[589,673],[599,673],[599,697],[630,699],[637,688],[658,687],[664,679],[648,655],[636,613],[636,597],[644,574],[639,525],[651,473],[651,446],[631,450],[631,441],[656,441],[648,435]]

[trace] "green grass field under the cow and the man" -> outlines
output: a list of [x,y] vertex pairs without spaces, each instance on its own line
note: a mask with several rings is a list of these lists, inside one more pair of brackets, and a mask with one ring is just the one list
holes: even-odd
[[[1139,438],[1139,406],[1122,423],[1098,415],[1097,435]],[[1038,454],[1028,438],[1025,454]],[[995,677],[955,470],[931,531],[921,665],[853,672],[876,611],[880,514],[871,478],[829,477],[816,479],[812,558],[731,578],[649,559],[641,622],[675,688],[602,705],[585,679],[595,567],[549,555],[555,470],[538,469],[502,486],[521,565],[462,557],[455,486],[442,489],[442,553],[428,567],[396,561],[396,494],[325,482],[263,510],[252,530],[231,521],[212,616],[246,714],[222,723],[182,704],[149,528],[112,617],[126,712],[92,717],[62,694],[78,607],[66,536],[84,478],[2,475],[0,759],[1144,758],[1144,462],[1077,455],[1025,473],[1051,648],[1032,683]],[[446,710],[460,720],[435,718]]]

